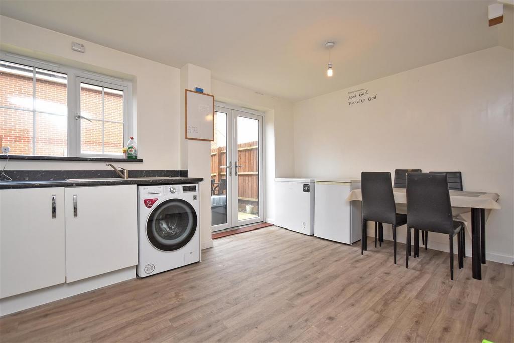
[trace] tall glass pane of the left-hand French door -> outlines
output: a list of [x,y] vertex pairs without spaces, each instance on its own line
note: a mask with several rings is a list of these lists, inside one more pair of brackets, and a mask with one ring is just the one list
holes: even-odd
[[[219,110],[219,109],[218,109]],[[211,211],[212,230],[231,227],[227,178],[231,176],[228,168],[230,155],[227,155],[228,121],[230,111],[214,112],[214,141],[211,142]],[[229,158],[227,159],[227,156]],[[228,162],[228,163],[227,163]],[[228,174],[228,175],[227,175]]]

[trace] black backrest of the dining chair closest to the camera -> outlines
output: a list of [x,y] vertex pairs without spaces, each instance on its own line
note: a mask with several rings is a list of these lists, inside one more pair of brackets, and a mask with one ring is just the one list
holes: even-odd
[[407,226],[453,232],[448,179],[444,173],[407,174]]

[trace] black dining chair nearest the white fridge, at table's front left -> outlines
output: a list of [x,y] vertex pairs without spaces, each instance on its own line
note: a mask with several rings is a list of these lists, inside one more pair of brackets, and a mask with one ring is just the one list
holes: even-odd
[[[366,223],[391,224],[393,227],[393,252],[396,264],[396,228],[407,223],[405,214],[396,213],[390,172],[362,172],[362,241],[361,254],[368,250]],[[375,231],[376,232],[376,231]],[[376,242],[376,233],[375,233]],[[376,244],[376,243],[375,243]]]

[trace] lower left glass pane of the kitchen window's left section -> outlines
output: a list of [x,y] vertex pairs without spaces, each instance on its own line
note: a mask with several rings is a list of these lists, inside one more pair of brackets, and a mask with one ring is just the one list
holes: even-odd
[[0,136],[11,155],[32,155],[32,123],[32,112],[0,109]]

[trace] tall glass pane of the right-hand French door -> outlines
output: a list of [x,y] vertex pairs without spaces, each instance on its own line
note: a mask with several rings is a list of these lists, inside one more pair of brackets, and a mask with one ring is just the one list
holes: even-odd
[[[240,114],[241,112],[238,112]],[[237,115],[237,221],[250,224],[260,213],[259,119]]]

